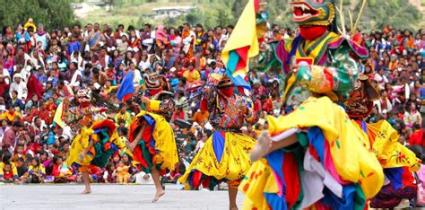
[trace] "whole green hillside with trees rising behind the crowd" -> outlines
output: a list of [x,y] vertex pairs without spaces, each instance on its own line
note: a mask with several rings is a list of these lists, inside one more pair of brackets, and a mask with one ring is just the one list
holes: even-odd
[[[357,17],[361,0],[344,0],[348,10]],[[291,0],[268,0],[266,7],[270,22],[282,27],[293,27],[291,22]],[[117,26],[124,23],[139,28],[143,23],[154,26],[178,25],[183,22],[203,23],[207,27],[235,24],[247,0],[13,0],[0,1],[0,22],[16,25],[26,22],[28,17],[45,23],[46,28],[63,28],[73,22],[100,22]],[[84,7],[76,6],[84,4]],[[416,31],[425,28],[425,0],[369,0],[360,22],[360,29],[380,29],[392,24],[396,29]],[[22,6],[26,5],[26,6]],[[152,19],[153,8],[164,6],[195,6],[186,16],[178,18]],[[74,15],[73,15],[74,11]]]

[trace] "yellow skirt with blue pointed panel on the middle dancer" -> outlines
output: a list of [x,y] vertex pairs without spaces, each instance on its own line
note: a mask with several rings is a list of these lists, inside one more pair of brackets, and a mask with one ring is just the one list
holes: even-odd
[[256,140],[249,136],[216,131],[178,181],[185,183],[187,189],[197,189],[201,184],[212,189],[221,181],[237,188],[251,166],[249,153],[255,144]]

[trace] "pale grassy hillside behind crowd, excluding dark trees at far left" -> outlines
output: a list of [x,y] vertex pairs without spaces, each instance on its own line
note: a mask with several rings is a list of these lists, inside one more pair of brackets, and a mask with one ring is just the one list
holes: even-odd
[[[101,7],[80,20],[83,23],[117,24],[124,22],[126,25],[133,24],[135,26],[140,26],[144,22],[165,23],[165,25],[201,22],[207,27],[213,27],[235,24],[247,4],[247,0],[105,0],[105,2],[107,5],[113,6],[108,12],[105,7]],[[281,26],[293,26],[288,4],[291,0],[268,0],[267,2],[269,3],[267,11],[271,14],[271,22]],[[357,16],[360,4],[360,0],[344,0],[346,20],[348,20],[348,10],[351,10],[354,18]],[[146,14],[152,13],[152,8],[176,5],[193,5],[197,9],[186,17],[160,20],[145,17]],[[425,27],[425,20],[422,16],[424,8],[425,0],[369,0],[367,10],[360,22],[360,29],[371,30],[382,28],[385,24],[392,24],[397,29],[407,28],[416,31]]]

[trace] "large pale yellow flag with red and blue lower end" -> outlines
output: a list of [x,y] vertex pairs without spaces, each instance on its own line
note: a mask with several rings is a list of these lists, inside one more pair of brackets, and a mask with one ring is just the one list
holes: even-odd
[[258,7],[259,0],[249,0],[221,53],[226,74],[236,86],[242,86],[248,90],[251,90],[251,87],[245,77],[249,58],[256,57],[259,53],[256,29]]

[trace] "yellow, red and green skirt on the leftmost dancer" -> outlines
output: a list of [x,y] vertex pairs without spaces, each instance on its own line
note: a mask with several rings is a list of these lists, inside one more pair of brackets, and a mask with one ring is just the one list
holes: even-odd
[[[91,141],[94,142],[89,152],[80,160],[80,153],[85,151]],[[126,147],[119,140],[117,127],[111,120],[96,121],[90,128],[83,127],[80,135],[75,136],[66,163],[74,170],[88,171],[90,165],[105,167],[112,154]]]

